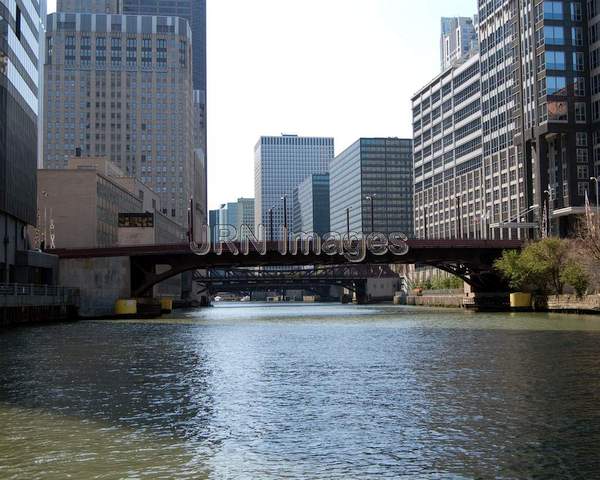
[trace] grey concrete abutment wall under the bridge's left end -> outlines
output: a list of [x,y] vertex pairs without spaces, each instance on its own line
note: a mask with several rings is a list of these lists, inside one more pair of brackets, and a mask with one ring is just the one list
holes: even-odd
[[61,259],[59,283],[80,291],[82,317],[113,315],[115,302],[131,296],[128,257]]

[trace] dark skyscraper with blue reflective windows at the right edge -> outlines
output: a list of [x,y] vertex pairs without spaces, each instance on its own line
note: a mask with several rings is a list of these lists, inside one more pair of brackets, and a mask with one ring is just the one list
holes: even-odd
[[594,190],[590,146],[600,146],[598,2],[533,3],[480,2],[484,156],[516,150],[528,218],[567,235]]

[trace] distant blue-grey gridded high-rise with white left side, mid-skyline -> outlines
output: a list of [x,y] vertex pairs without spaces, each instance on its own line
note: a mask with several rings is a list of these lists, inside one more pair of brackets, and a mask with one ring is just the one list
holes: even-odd
[[[254,150],[255,226],[262,224],[270,230],[271,211],[273,240],[281,238],[285,223],[291,231],[294,189],[309,175],[326,173],[333,156],[333,138],[261,137]],[[283,197],[287,199],[287,222]]]

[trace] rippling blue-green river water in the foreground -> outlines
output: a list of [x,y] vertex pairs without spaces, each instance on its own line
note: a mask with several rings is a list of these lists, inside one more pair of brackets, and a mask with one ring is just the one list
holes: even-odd
[[0,478],[600,478],[600,318],[223,304],[4,331]]

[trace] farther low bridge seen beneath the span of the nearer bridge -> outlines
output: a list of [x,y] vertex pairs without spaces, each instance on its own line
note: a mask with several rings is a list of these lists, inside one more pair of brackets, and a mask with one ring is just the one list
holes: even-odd
[[241,292],[256,290],[302,289],[320,293],[323,287],[338,286],[354,292],[359,303],[366,301],[369,279],[400,279],[389,265],[335,265],[310,268],[257,270],[247,268],[209,269],[198,271],[194,281],[202,293]]

